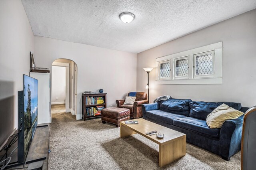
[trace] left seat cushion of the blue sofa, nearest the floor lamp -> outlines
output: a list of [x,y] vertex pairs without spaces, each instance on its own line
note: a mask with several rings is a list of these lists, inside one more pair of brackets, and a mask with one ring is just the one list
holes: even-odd
[[165,112],[161,110],[153,110],[153,111],[147,111],[146,117],[150,119],[154,119],[157,122],[163,122],[167,123],[169,125],[172,125],[172,122],[174,119],[186,117],[184,115],[177,115],[170,112]]

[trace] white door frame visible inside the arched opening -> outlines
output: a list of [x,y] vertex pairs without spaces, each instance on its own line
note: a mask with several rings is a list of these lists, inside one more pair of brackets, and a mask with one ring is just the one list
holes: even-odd
[[69,63],[61,63],[61,62],[56,62],[54,61],[52,63],[52,66],[59,66],[59,67],[66,67],[66,99],[65,99],[65,108],[66,108],[66,113],[70,112],[69,108]]

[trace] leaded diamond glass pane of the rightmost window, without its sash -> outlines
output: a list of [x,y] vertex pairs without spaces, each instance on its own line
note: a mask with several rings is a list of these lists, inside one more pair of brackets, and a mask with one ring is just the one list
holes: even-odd
[[213,74],[212,53],[196,56],[196,75]]

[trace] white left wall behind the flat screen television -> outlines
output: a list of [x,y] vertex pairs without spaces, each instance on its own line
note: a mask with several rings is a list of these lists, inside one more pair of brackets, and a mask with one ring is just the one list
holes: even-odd
[[[29,75],[34,34],[20,0],[0,0],[0,145],[18,125],[18,91]],[[1,146],[0,146],[1,148]]]

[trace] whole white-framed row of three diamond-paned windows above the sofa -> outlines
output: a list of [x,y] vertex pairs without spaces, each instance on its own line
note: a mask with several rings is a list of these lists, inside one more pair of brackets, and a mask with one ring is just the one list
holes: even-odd
[[222,42],[156,58],[156,84],[222,84]]

